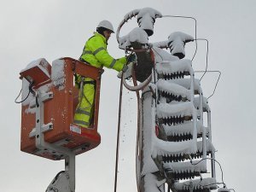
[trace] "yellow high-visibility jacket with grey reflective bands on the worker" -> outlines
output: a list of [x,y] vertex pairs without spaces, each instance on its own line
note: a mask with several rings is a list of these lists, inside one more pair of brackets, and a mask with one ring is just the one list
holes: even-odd
[[126,63],[125,57],[116,60],[108,54],[106,38],[98,32],[95,32],[94,36],[89,38],[84,45],[80,60],[88,62],[94,67],[113,68],[118,72],[122,71]]

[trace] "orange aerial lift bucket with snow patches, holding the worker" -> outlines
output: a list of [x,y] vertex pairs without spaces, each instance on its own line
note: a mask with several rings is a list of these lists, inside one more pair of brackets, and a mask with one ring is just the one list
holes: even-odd
[[[74,112],[79,103],[79,89],[74,86],[74,73],[96,81],[94,118],[90,129],[73,125]],[[39,135],[35,127],[38,123],[44,133],[44,142],[55,148],[67,148],[74,154],[96,148],[101,143],[97,125],[102,73],[102,69],[69,57],[53,61],[52,67],[46,60],[40,59],[22,70],[20,79],[23,79],[23,89],[26,84],[30,84],[27,92],[32,92],[33,96],[31,94],[22,102],[21,151],[51,160],[65,158],[58,151],[37,148],[36,137]],[[38,97],[38,93],[41,97]],[[38,109],[40,103],[44,108]],[[39,112],[40,117],[37,115]]]

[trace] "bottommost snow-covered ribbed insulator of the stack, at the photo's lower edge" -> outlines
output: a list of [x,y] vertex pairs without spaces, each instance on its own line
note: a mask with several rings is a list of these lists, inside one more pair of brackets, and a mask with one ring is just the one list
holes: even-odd
[[189,192],[190,188],[193,192],[210,192],[213,189],[217,189],[217,181],[213,177],[189,180],[183,183],[174,183],[173,187],[177,192]]

